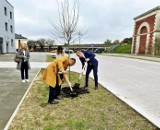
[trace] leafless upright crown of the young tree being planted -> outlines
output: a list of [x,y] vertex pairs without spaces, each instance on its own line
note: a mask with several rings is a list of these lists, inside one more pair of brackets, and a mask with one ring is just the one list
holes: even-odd
[[58,19],[51,20],[52,36],[69,45],[78,40],[77,24],[79,20],[79,4],[76,0],[63,0],[58,4]]

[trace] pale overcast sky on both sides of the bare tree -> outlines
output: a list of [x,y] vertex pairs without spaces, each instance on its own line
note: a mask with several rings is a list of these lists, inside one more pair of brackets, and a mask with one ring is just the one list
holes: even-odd
[[[56,0],[8,0],[14,6],[15,31],[28,39],[51,38],[49,19],[56,19]],[[60,1],[60,0],[59,0]],[[133,18],[160,5],[159,0],[79,0],[83,43],[123,40],[133,35]]]

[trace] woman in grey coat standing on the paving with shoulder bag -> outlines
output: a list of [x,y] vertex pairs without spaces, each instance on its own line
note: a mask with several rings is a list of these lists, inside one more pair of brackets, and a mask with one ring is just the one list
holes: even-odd
[[21,71],[22,82],[29,82],[28,70],[30,69],[30,53],[26,43],[24,43],[22,49],[18,51],[17,57],[20,58],[20,61],[17,64],[17,69]]

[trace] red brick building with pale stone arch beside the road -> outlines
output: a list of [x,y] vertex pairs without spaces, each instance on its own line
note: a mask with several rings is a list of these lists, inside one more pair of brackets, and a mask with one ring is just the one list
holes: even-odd
[[132,54],[155,54],[155,41],[160,38],[160,6],[134,18]]

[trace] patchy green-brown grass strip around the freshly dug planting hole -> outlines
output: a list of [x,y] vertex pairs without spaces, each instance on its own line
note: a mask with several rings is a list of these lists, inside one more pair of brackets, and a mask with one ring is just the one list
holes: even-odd
[[[48,86],[41,80],[42,73],[43,70],[9,130],[158,130],[101,85],[94,90],[92,79],[89,81],[90,93],[65,97],[58,105],[47,104]],[[78,73],[71,72],[73,85],[77,79]],[[80,84],[83,86],[84,77]]]

